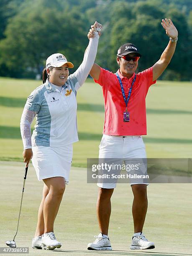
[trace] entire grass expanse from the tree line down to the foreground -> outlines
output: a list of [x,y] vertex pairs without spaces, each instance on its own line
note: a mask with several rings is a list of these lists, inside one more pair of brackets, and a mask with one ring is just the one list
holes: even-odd
[[[17,227],[23,183],[23,144],[20,116],[27,96],[40,81],[0,79],[0,162],[1,207],[0,247],[13,239]],[[191,158],[192,83],[157,82],[149,89],[147,107],[148,135],[143,136],[150,158]],[[79,142],[74,143],[73,166],[86,167],[87,158],[98,156],[102,136],[104,104],[102,90],[88,79],[77,94]],[[33,122],[34,125],[34,122]],[[86,169],[72,168],[70,184],[64,194],[55,224],[62,247],[55,251],[32,250],[30,255],[139,255],[192,256],[191,184],[151,184],[148,186],[148,214],[143,232],[154,241],[151,251],[131,251],[133,235],[132,192],[128,184],[118,184],[112,199],[110,241],[112,252],[87,251],[87,243],[99,233],[96,217],[96,184],[87,184]],[[31,246],[41,202],[42,182],[30,165],[23,198],[17,246]],[[17,254],[20,255],[20,254]]]

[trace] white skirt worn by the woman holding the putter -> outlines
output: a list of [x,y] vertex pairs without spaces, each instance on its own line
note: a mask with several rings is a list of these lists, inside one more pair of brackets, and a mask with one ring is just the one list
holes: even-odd
[[51,177],[64,177],[69,183],[69,172],[72,164],[73,145],[60,147],[33,146],[32,164],[38,180]]

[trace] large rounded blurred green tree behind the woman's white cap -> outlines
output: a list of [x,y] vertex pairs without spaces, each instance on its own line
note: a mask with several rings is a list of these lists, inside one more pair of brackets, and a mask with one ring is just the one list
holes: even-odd
[[88,44],[85,24],[78,12],[63,10],[56,2],[28,1],[8,24],[0,42],[1,62],[17,70],[17,77],[34,77],[55,52],[66,55],[76,68],[82,61]]

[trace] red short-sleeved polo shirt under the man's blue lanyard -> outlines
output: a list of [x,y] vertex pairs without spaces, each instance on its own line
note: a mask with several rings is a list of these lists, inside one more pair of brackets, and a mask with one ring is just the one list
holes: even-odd
[[[135,73],[131,78],[123,77],[118,70],[123,83],[126,98],[133,82]],[[123,122],[125,112],[125,101],[121,92],[118,78],[112,72],[100,68],[100,77],[96,83],[100,84],[105,101],[105,122],[103,133],[106,135],[146,135],[146,95],[148,88],[155,84],[153,81],[153,67],[136,74],[136,81],[133,84],[131,97],[127,109],[130,112],[130,121]]]

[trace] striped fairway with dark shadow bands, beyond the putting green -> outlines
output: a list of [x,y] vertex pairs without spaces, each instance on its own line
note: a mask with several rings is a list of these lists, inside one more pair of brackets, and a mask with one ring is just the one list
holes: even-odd
[[[41,81],[0,78],[0,160],[22,161],[20,116],[27,96],[39,85]],[[143,136],[148,158],[191,158],[191,97],[191,82],[158,81],[150,87],[146,98],[148,135]],[[87,79],[77,93],[77,102],[79,142],[74,143],[72,165],[86,167],[87,158],[98,156],[102,136],[100,85]]]

